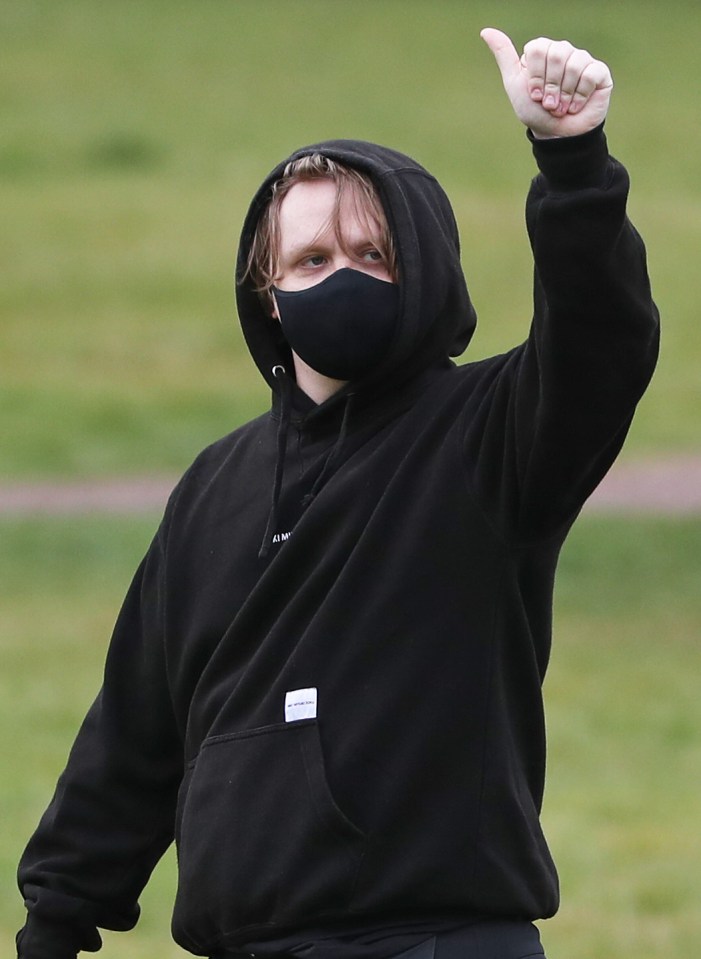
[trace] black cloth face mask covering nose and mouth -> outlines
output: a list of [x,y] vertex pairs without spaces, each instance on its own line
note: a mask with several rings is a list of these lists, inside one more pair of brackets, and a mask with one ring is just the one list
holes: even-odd
[[282,332],[317,373],[354,380],[389,350],[399,314],[399,287],[344,268],[294,292],[273,287]]

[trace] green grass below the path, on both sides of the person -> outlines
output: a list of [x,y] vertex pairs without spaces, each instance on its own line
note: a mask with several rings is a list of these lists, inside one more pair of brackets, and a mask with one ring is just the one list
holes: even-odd
[[[155,518],[0,524],[0,949],[22,921],[21,849],[100,681]],[[552,959],[693,956],[701,934],[701,523],[585,516],[568,541],[546,682],[545,828],[563,906]],[[176,957],[167,858],[105,956]],[[4,948],[3,948],[4,947]]]

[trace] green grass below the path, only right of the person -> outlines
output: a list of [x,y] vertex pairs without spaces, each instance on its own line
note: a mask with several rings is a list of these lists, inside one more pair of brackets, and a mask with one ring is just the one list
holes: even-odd
[[580,521],[546,684],[552,954],[694,955],[701,935],[701,522]]

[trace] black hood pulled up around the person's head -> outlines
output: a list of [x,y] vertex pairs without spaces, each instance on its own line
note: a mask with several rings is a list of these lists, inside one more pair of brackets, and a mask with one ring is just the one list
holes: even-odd
[[[320,153],[372,180],[394,237],[399,272],[399,322],[389,353],[364,383],[404,379],[469,343],[476,315],[460,264],[460,241],[450,202],[436,179],[410,157],[360,140],[327,140],[303,147],[280,163],[256,193],[244,221],[236,268],[243,334],[266,381],[278,389],[276,365],[292,369],[279,322],[266,312],[246,272],[258,220],[272,185],[292,160]],[[354,384],[354,389],[357,385]]]

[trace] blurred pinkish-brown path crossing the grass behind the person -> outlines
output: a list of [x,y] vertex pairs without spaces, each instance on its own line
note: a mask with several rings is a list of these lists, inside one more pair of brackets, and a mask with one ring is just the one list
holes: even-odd
[[[0,514],[160,512],[176,477],[0,484]],[[616,464],[585,507],[589,513],[701,516],[701,454]]]

